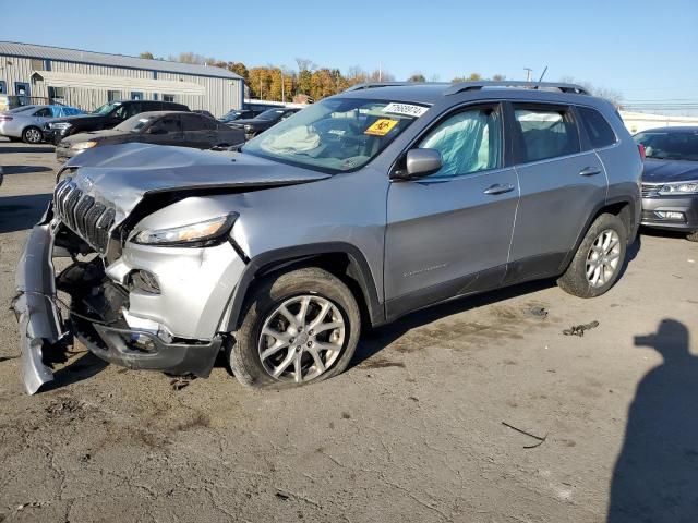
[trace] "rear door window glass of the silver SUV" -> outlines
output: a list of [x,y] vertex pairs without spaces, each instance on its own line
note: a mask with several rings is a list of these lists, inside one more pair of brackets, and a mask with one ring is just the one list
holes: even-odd
[[521,136],[519,161],[579,153],[579,134],[569,108],[529,108],[515,104],[514,118]]

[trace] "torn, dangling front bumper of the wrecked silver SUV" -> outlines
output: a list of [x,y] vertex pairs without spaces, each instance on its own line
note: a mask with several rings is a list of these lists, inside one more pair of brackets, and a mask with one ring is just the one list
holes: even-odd
[[71,336],[110,363],[207,377],[220,351],[220,337],[167,343],[147,330],[106,326],[76,317],[63,321],[56,305],[51,215],[49,208],[32,230],[15,276],[17,294],[12,306],[20,326],[21,377],[26,392],[33,394],[53,379],[50,362],[60,361],[58,356],[64,354],[64,342]]

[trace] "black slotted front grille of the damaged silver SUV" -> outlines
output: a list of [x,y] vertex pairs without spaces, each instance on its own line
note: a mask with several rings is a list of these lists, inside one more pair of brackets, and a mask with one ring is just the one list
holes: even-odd
[[56,186],[53,205],[56,214],[65,226],[98,252],[107,251],[115,209],[84,195],[69,177]]

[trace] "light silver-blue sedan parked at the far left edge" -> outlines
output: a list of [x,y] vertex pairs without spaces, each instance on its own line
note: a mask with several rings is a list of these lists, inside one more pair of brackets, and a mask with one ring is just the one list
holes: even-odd
[[21,106],[0,114],[0,136],[39,144],[44,139],[41,127],[47,121],[82,113],[82,110],[68,106]]

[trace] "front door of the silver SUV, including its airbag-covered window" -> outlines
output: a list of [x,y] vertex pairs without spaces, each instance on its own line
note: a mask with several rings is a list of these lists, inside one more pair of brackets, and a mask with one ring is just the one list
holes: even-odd
[[500,285],[518,203],[504,166],[500,104],[468,106],[431,127],[417,147],[436,149],[442,169],[388,188],[384,283],[389,319]]

